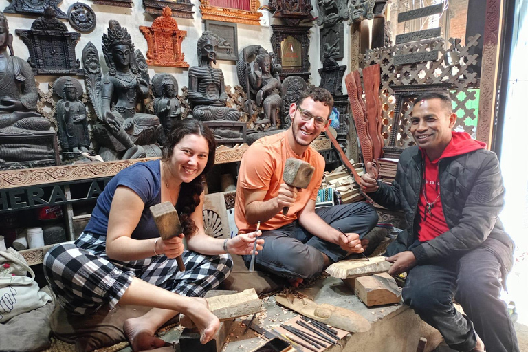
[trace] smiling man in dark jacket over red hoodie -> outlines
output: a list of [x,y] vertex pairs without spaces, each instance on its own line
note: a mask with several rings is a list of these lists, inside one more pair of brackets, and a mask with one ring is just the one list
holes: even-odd
[[[361,186],[382,206],[403,210],[408,228],[389,246],[389,274],[407,272],[404,302],[457,351],[518,352],[501,284],[514,244],[498,214],[503,179],[495,153],[465,132],[447,93],[415,100],[410,131],[417,146],[399,158],[393,184],[374,177]],[[466,315],[456,311],[453,300]]]

